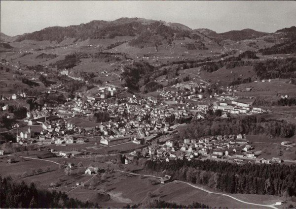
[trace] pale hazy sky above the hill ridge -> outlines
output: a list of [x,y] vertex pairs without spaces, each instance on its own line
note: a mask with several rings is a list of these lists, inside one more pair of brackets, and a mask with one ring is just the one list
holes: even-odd
[[18,35],[50,26],[140,17],[217,32],[296,26],[296,1],[0,1],[0,31]]

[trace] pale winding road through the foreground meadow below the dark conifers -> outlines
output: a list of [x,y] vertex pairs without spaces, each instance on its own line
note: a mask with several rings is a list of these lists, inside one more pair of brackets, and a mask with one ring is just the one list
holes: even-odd
[[[125,171],[120,171],[120,170],[114,170],[114,171],[118,171],[118,172],[122,172],[122,173],[126,173],[126,174],[131,174],[131,175],[135,175],[135,176],[140,176],[140,175],[142,175],[142,176],[145,176],[145,177],[160,178],[160,177],[157,177],[157,176],[145,175],[145,174],[134,174],[134,173],[125,172]],[[238,202],[245,203],[245,204],[248,204],[248,205],[262,206],[262,207],[268,207],[268,208],[272,208],[272,209],[277,209],[277,208],[275,207],[275,204],[271,204],[271,205],[262,205],[262,204],[256,204],[256,203],[245,202],[245,201],[242,201],[242,200],[240,200],[240,199],[237,199],[237,198],[235,198],[235,197],[233,197],[233,196],[231,196],[231,195],[227,195],[227,194],[223,194],[223,193],[218,193],[218,192],[211,192],[211,191],[209,191],[209,190],[207,190],[207,189],[204,189],[204,188],[202,188],[202,187],[200,187],[200,186],[192,185],[191,183],[188,183],[188,182],[185,182],[185,181],[175,180],[175,182],[181,182],[181,183],[188,184],[189,186],[192,186],[192,187],[194,187],[194,188],[196,188],[196,189],[200,189],[200,190],[205,191],[205,192],[207,192],[207,193],[209,193],[209,194],[218,194],[218,195],[223,195],[223,196],[226,196],[226,197],[230,197],[230,198],[232,198],[232,199],[234,199],[234,200],[236,200],[236,201],[238,201]]]

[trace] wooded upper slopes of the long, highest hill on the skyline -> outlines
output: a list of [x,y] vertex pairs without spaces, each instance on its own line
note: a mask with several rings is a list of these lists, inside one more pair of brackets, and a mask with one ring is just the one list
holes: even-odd
[[120,18],[114,21],[91,21],[86,24],[68,27],[49,27],[43,30],[26,33],[19,36],[15,41],[23,40],[50,40],[58,43],[65,38],[74,38],[74,41],[86,39],[114,38],[115,36],[134,36],[129,43],[134,47],[158,46],[171,44],[173,40],[184,40],[185,37],[193,40],[201,40],[200,33],[213,39],[243,40],[255,38],[266,33],[251,29],[232,30],[224,33],[216,33],[208,29],[191,30],[179,23],[166,23],[164,21],[147,20],[143,18]]

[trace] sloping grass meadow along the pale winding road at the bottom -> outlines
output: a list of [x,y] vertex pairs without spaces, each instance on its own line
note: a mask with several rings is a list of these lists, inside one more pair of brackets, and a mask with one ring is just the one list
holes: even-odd
[[[122,207],[126,204],[147,203],[153,197],[159,197],[161,200],[167,202],[176,202],[185,205],[192,204],[195,201],[207,204],[211,207],[252,208],[251,205],[243,204],[222,195],[208,194],[185,183],[170,182],[166,184],[156,183],[150,185],[148,179],[150,179],[150,177],[143,177],[141,179],[139,176],[118,173],[111,174],[105,183],[99,184],[95,188],[96,190],[99,189],[99,191],[103,190],[108,193],[111,200],[116,200],[117,204],[113,201],[102,201],[100,205],[103,207]],[[252,199],[254,203],[266,205],[274,204],[276,201],[281,200],[280,197],[267,195],[239,195],[238,198],[245,201],[250,201]],[[254,206],[254,208],[256,208],[256,206]]]

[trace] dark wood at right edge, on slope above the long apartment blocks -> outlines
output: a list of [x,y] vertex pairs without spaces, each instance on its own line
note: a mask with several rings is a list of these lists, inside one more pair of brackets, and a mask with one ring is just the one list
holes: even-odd
[[253,67],[259,79],[296,78],[296,59],[266,60]]

